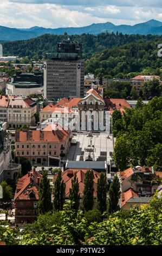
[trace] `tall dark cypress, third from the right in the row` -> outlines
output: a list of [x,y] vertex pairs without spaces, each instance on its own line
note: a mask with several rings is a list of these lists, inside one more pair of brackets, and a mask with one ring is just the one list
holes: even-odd
[[86,178],[85,178],[85,186],[84,186],[84,190],[83,190],[83,208],[86,211],[92,210],[93,209],[93,204],[94,204],[94,197],[93,197],[93,193],[94,193],[94,174],[93,174],[93,170],[87,170],[86,172]]

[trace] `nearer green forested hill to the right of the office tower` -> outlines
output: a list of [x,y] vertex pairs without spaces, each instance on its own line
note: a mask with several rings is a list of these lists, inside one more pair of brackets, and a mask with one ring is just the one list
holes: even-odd
[[[129,44],[106,49],[86,61],[86,74],[98,76],[100,67],[105,77],[129,78],[140,72],[143,75],[162,76],[162,57],[158,57],[159,39],[144,41],[138,40]],[[128,74],[128,75],[127,75]]]

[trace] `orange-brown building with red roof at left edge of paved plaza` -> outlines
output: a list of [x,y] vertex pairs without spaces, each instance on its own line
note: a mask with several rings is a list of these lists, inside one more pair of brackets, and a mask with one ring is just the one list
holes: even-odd
[[71,131],[49,124],[41,131],[16,131],[15,154],[33,163],[48,162],[48,156],[64,157],[70,147]]

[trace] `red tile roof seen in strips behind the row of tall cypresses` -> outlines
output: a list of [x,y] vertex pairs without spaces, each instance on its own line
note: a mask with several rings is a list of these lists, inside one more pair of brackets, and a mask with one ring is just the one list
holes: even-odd
[[[85,176],[86,176],[86,172],[88,169],[67,169],[64,170],[64,172],[62,172],[62,180],[63,182],[66,183],[66,197],[69,196],[69,188],[72,187],[72,179],[74,176],[74,173],[76,172],[76,178],[78,178],[78,182],[79,182],[79,192],[80,192],[80,197],[82,197],[83,195],[83,190],[84,190],[84,186],[85,186]],[[94,172],[94,197],[96,197],[97,193],[97,182],[98,182],[98,178],[100,177],[100,173],[96,172],[95,170],[93,170]],[[57,175],[54,176],[54,180],[53,182],[55,183]]]

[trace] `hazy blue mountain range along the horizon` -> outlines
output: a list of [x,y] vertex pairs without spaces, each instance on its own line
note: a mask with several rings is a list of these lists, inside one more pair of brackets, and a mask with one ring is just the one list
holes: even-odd
[[35,38],[43,34],[55,34],[63,35],[65,32],[68,35],[81,35],[81,34],[93,34],[100,33],[122,33],[122,34],[152,34],[162,35],[162,22],[157,20],[150,20],[144,23],[138,23],[131,25],[114,25],[111,22],[106,23],[93,23],[86,27],[67,27],[67,28],[43,28],[43,27],[31,27],[31,28],[8,28],[0,26],[0,41],[16,41]]

